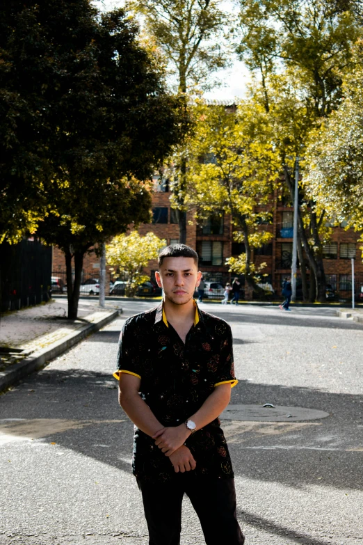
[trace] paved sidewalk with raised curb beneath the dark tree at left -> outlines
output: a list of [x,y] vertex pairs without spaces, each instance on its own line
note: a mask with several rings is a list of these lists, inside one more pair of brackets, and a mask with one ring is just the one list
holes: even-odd
[[100,308],[96,300],[79,301],[76,320],[67,319],[67,299],[51,300],[0,316],[0,391],[117,317],[118,301]]

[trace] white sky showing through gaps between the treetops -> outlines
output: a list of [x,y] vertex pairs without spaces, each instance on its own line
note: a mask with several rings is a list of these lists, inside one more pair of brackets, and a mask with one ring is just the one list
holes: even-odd
[[[113,8],[120,8],[124,6],[124,0],[93,0],[92,1],[99,10],[113,10]],[[232,3],[230,1],[224,1],[221,6],[227,11],[232,10]],[[248,83],[250,76],[247,68],[241,61],[235,58],[231,68],[225,70],[219,70],[215,72],[215,75],[221,82],[222,87],[215,88],[208,93],[204,93],[204,98],[214,100],[234,100],[236,97],[243,97],[245,95],[246,84]]]

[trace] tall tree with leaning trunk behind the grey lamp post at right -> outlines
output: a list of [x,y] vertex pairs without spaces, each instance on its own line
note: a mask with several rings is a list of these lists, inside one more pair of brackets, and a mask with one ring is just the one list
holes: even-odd
[[[351,47],[359,33],[356,13],[328,0],[241,0],[240,22],[243,39],[238,51],[261,76],[260,102],[275,127],[281,171],[293,198],[294,158],[304,155],[309,135],[339,106],[342,76],[353,65]],[[283,75],[277,77],[276,72]],[[325,301],[325,212],[305,194],[304,184],[300,191],[305,210],[298,211],[299,236],[313,273],[311,286],[315,280],[317,299]]]

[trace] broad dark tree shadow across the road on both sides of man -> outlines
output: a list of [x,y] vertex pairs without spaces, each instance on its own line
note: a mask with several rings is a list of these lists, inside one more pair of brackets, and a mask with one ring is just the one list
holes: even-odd
[[[305,429],[300,429],[299,436],[292,439],[292,443],[291,440],[286,443],[285,436],[288,438],[288,434],[264,434],[263,429],[258,432],[239,429],[238,425],[243,425],[243,422],[236,422],[236,434],[229,444],[236,475],[257,481],[279,482],[297,489],[309,484],[362,489],[363,473],[359,463],[362,452],[330,448],[334,437],[330,442],[325,439],[323,447],[326,446],[326,450],[305,450],[307,443],[316,444],[319,441],[319,435],[337,436],[337,428],[342,429],[345,422],[362,425],[362,395],[240,381],[232,390],[231,402],[272,402],[330,413],[330,417],[316,421],[317,424],[309,422]],[[13,393],[0,397],[0,409],[3,419],[85,421],[76,429],[70,425],[65,432],[48,434],[47,441],[54,441],[57,445],[122,471],[130,471],[128,461],[131,460],[133,426],[118,406],[117,383],[111,374],[76,369],[61,372],[45,368],[41,373],[29,377]],[[229,424],[230,421],[223,422],[226,427]],[[285,424],[291,433],[288,428],[291,424]],[[266,422],[262,425],[266,425]],[[357,441],[354,436],[350,439],[352,444],[354,440]],[[287,449],[275,449],[276,443],[287,445]]]

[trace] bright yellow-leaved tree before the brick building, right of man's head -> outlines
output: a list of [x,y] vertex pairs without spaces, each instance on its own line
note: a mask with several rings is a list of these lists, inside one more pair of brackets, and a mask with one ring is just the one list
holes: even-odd
[[[239,267],[239,274],[251,290],[256,290],[252,248],[259,248],[272,234],[261,228],[268,219],[264,206],[273,190],[271,170],[275,153],[272,136],[262,106],[251,107],[247,100],[237,112],[224,106],[197,106],[198,118],[191,147],[191,183],[186,203],[196,205],[200,217],[211,212],[231,214],[234,239],[243,242],[245,255],[229,265]],[[258,207],[260,209],[258,210]],[[242,267],[243,263],[243,267]]]

